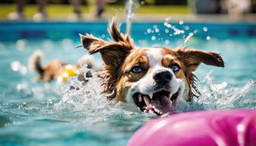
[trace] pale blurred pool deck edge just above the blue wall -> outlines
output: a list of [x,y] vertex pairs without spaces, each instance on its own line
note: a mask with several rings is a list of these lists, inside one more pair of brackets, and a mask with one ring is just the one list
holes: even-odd
[[[91,14],[82,14],[79,20],[67,18],[66,15],[59,15],[59,17],[51,17],[47,21],[110,21],[112,17],[117,17],[119,21],[125,21],[123,15],[108,15],[104,14],[103,17],[94,17]],[[212,22],[212,23],[252,23],[256,24],[256,14],[244,15],[230,15],[230,14],[135,14],[133,22],[155,22],[165,21],[169,17],[170,21],[184,21],[184,22]],[[0,18],[1,21],[9,21],[5,18]],[[28,19],[27,21],[33,21]]]

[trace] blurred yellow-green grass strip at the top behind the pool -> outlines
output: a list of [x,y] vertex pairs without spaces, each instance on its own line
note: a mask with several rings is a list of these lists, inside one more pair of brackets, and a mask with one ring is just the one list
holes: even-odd
[[[0,18],[6,19],[8,14],[15,11],[16,5],[0,5]],[[71,5],[47,5],[47,14],[49,18],[56,18],[66,16],[72,13]],[[107,5],[106,13],[110,15],[123,13],[123,5]],[[27,5],[25,10],[27,17],[32,17],[37,12],[37,5]],[[87,14],[94,14],[94,8],[84,5],[82,12]],[[136,10],[136,14],[189,14],[190,10],[187,6],[174,5],[143,5]]]

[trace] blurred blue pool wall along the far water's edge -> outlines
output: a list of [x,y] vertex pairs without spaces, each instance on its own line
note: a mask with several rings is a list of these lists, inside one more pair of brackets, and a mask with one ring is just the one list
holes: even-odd
[[[185,31],[185,35],[197,30],[198,33],[203,32],[203,27],[207,28],[207,32],[200,33],[196,37],[211,38],[240,38],[240,37],[256,37],[256,24],[251,23],[184,23],[182,25],[178,22],[171,22],[172,26],[178,29],[189,28]],[[78,33],[97,33],[108,36],[107,22],[66,22],[66,21],[47,21],[47,22],[33,22],[33,21],[2,21],[0,22],[0,41],[15,41],[15,40],[62,40],[72,39],[79,40]],[[133,39],[150,39],[152,35],[145,35],[148,28],[157,25],[159,29],[165,29],[164,22],[147,22],[147,23],[133,23],[132,37]],[[121,25],[122,32],[125,32],[126,25]],[[162,33],[165,37],[168,33]],[[102,36],[97,36],[102,37]],[[175,39],[178,36],[171,36]],[[165,37],[166,38],[166,37]]]

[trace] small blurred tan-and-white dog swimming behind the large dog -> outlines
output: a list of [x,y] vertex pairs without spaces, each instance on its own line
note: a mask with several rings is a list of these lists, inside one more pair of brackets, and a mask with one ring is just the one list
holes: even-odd
[[[42,65],[43,52],[36,50],[29,59],[28,65],[30,70],[37,71],[38,76],[34,81],[50,82],[56,79],[57,83],[67,81],[67,78],[78,75],[80,81],[87,82],[86,78],[91,78],[91,71],[86,73],[79,71],[81,65],[94,71],[100,70],[98,65],[94,63],[93,56],[82,56],[75,65],[69,65],[59,59],[53,59],[47,65]],[[85,74],[85,76],[84,76]]]

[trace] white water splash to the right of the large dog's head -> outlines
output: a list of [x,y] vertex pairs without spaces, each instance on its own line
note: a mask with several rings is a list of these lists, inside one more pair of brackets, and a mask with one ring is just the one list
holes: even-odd
[[200,87],[202,96],[194,100],[190,109],[255,108],[256,102],[248,95],[253,92],[255,84],[254,80],[249,80],[243,87],[230,87],[227,82],[216,84],[210,72]]

